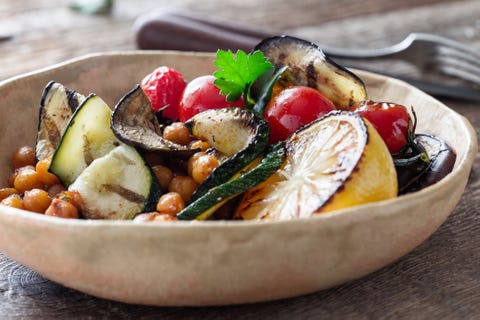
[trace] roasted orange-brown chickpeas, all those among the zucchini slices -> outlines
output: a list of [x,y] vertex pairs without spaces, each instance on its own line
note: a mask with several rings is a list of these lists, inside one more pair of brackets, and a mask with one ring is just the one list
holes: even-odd
[[[163,194],[155,212],[138,214],[135,221],[176,220],[175,215],[185,208],[198,185],[219,165],[218,159],[206,152],[210,148],[208,143],[194,140],[182,122],[165,127],[163,137],[200,151],[188,159],[167,158],[158,153],[144,155]],[[81,195],[65,190],[59,179],[48,171],[50,162],[51,158],[36,161],[32,147],[16,149],[12,156],[14,172],[8,179],[8,186],[0,188],[0,203],[45,215],[80,218]]]

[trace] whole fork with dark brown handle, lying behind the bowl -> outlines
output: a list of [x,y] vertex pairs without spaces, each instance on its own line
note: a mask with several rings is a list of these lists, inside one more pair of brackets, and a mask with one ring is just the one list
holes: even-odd
[[[186,12],[151,13],[139,18],[135,27],[140,49],[251,50],[262,38],[276,34]],[[342,65],[393,76],[436,96],[480,101],[480,52],[451,39],[412,33],[386,48],[323,50]],[[394,73],[390,64],[386,64],[389,70],[385,70],[385,64],[383,70],[362,65],[387,59],[409,62],[419,76]],[[445,79],[445,75],[451,79]]]

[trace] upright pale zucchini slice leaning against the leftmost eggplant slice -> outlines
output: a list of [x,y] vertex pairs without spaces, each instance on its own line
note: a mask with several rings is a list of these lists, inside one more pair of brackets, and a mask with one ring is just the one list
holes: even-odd
[[96,158],[119,146],[110,129],[112,111],[95,94],[90,94],[72,115],[52,157],[49,171],[68,187]]

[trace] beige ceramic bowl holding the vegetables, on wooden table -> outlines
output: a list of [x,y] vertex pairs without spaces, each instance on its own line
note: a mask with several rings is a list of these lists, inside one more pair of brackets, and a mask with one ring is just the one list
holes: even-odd
[[[55,80],[112,106],[159,65],[187,79],[212,56],[127,52],[91,55],[0,83],[0,178],[20,145],[34,145],[43,88]],[[292,297],[362,277],[411,251],[459,201],[477,153],[467,120],[397,80],[358,72],[370,97],[413,105],[418,132],[457,152],[441,182],[397,199],[284,222],[66,220],[0,205],[0,250],[48,279],[85,293],[160,306],[222,305]]]

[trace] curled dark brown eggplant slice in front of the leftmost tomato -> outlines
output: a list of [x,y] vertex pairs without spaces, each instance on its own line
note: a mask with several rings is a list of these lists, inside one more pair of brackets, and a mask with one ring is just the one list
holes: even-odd
[[112,113],[111,126],[118,139],[147,151],[179,155],[198,151],[163,138],[162,126],[140,85],[136,85],[117,104]]

